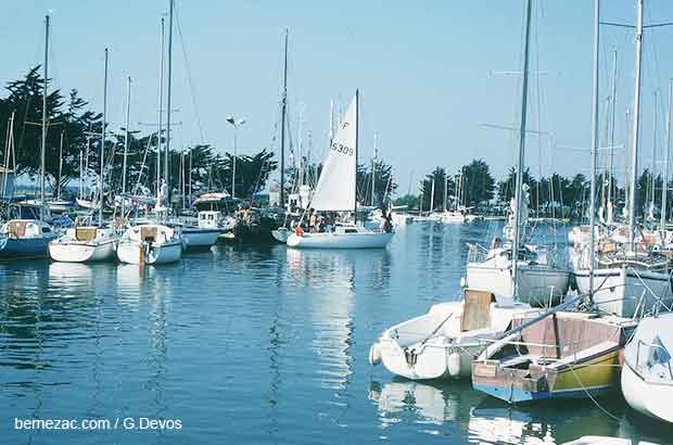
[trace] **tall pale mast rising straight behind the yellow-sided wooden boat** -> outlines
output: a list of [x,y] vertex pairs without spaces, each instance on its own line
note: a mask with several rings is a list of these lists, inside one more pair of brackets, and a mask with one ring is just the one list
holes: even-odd
[[594,1],[594,72],[592,99],[592,186],[589,200],[589,297],[594,295],[594,257],[596,226],[596,156],[598,154],[598,51],[600,38],[600,0]]

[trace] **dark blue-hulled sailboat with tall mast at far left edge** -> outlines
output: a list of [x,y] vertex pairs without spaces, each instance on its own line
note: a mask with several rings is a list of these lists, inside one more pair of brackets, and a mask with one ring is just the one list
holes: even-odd
[[49,212],[45,200],[45,164],[47,156],[47,88],[49,80],[49,15],[45,16],[45,86],[42,88],[42,150],[40,162],[40,217],[10,219],[0,226],[0,259],[46,257],[47,244],[58,232],[46,223]]

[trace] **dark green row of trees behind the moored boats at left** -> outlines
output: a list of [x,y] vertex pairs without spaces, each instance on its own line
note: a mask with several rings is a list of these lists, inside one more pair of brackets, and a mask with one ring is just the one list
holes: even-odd
[[[14,118],[13,134],[16,175],[36,179],[40,171],[42,91],[45,79],[39,66],[30,69],[20,80],[5,87],[7,97],[0,98],[0,131],[8,135],[10,119]],[[47,143],[46,181],[55,191],[80,177],[80,156],[87,160],[87,177],[97,177],[100,171],[100,143],[102,114],[90,110],[89,103],[74,89],[67,97],[61,90],[53,90],[47,97]],[[125,128],[122,134],[109,134],[105,141],[105,182],[107,189],[119,189],[122,185],[122,156],[124,153]],[[4,141],[2,141],[4,142]],[[141,183],[155,189],[158,147],[156,131],[138,136],[131,134],[128,143],[127,188]],[[162,134],[162,144],[165,137]],[[2,158],[4,160],[2,150]],[[206,190],[230,190],[233,156],[206,144],[172,149],[169,153],[169,185],[176,189],[191,170],[194,193]],[[269,175],[277,168],[274,153],[261,150],[254,155],[237,156],[237,195],[251,196],[263,190]]]

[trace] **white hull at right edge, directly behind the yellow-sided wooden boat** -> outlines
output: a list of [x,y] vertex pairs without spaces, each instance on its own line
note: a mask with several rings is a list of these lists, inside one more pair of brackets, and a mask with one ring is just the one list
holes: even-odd
[[[576,270],[575,280],[581,293],[589,293],[588,270]],[[651,292],[650,292],[651,291]],[[608,314],[631,318],[651,312],[661,301],[671,306],[671,278],[668,274],[610,268],[594,270],[594,303]]]

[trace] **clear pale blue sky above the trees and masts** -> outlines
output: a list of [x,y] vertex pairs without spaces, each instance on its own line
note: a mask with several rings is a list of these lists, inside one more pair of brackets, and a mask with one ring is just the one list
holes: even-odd
[[[588,175],[593,60],[592,0],[533,0],[526,166],[535,176]],[[673,22],[673,2],[645,0],[645,22]],[[45,14],[51,15],[50,77],[102,110],[103,51],[110,49],[107,120],[124,125],[132,78],[131,129],[157,120],[160,20],[168,0],[27,0],[3,7],[0,84],[41,63]],[[283,34],[289,30],[288,98],[293,145],[300,110],[304,150],[319,161],[328,145],[330,101],[345,110],[360,91],[360,162],[372,153],[394,166],[398,193],[416,192],[435,166],[449,171],[484,158],[500,178],[515,164],[519,126],[524,0],[176,0],[173,39],[173,147],[212,143],[231,151],[225,118],[246,123],[239,153],[278,150]],[[601,20],[635,23],[635,0],[602,1]],[[167,28],[167,25],[166,25]],[[673,27],[644,37],[640,166],[664,160]],[[634,31],[601,27],[600,134],[617,51],[617,145],[626,144],[633,104]],[[653,91],[659,91],[657,113]],[[0,92],[0,94],[4,94]],[[653,137],[653,116],[658,132]],[[310,136],[309,136],[310,134]],[[276,138],[276,139],[275,139]],[[306,152],[305,152],[306,153]],[[605,151],[602,152],[606,153]],[[615,150],[623,174],[626,150]],[[605,157],[605,156],[604,156]],[[601,160],[602,162],[602,160]]]

